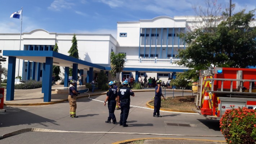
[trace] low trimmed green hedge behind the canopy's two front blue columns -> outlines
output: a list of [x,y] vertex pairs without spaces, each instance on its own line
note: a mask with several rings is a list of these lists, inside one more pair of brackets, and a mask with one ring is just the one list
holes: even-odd
[[41,81],[28,80],[24,81],[23,84],[17,84],[14,86],[14,89],[36,89],[42,87]]

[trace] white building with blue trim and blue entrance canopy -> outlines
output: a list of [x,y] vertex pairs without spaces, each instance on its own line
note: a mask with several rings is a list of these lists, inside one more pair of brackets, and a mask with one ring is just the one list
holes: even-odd
[[[67,86],[68,68],[80,69],[81,73],[86,75],[84,83],[86,77],[87,82],[90,82],[100,71],[104,71],[109,80],[113,80],[109,74],[109,57],[113,51],[126,54],[122,77],[132,75],[138,80],[139,75],[142,77],[147,75],[167,81],[169,77],[175,78],[175,73],[188,69],[176,65],[174,62],[179,58],[175,56],[179,49],[186,48],[184,41],[180,39],[180,34],[193,29],[194,24],[197,23],[197,17],[166,16],[135,22],[117,22],[116,39],[111,34],[56,33],[37,29],[22,33],[21,50],[19,50],[20,33],[0,33],[0,49],[7,57],[7,61],[2,64],[3,67],[8,68],[10,82],[12,80],[9,79],[18,75],[19,69],[19,75],[23,80],[43,80],[44,83],[44,72],[48,73],[52,65],[61,66],[61,77]],[[74,34],[77,38],[79,60],[67,56]],[[52,51],[55,43],[58,44],[59,53]],[[51,74],[50,72],[45,76],[47,83]],[[45,87],[48,89],[51,86],[47,84]],[[50,95],[49,90],[45,93]],[[12,96],[9,97],[9,100],[12,100]],[[45,101],[49,100],[48,98]]]

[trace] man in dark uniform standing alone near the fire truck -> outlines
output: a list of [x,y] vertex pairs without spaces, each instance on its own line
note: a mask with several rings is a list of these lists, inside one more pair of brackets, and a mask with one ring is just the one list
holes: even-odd
[[[156,86],[156,93],[155,93],[155,97],[154,97],[154,113],[153,113],[153,117],[162,117],[160,115],[161,96],[163,96],[162,89],[161,89],[162,81],[158,80],[156,83],[157,83],[157,86]],[[163,99],[165,99],[164,96],[163,96]]]

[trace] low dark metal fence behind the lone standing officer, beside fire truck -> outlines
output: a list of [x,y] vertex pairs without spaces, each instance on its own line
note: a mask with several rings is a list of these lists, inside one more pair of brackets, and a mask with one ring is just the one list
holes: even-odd
[[163,96],[190,96],[193,95],[192,90],[186,90],[186,89],[166,89],[162,88],[162,94]]

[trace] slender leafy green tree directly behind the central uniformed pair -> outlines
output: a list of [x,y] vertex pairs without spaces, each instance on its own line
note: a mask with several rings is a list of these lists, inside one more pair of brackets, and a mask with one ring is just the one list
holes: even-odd
[[121,71],[125,67],[125,54],[119,53],[115,54],[114,52],[111,52],[110,54],[110,74],[111,76],[119,81],[121,80]]

